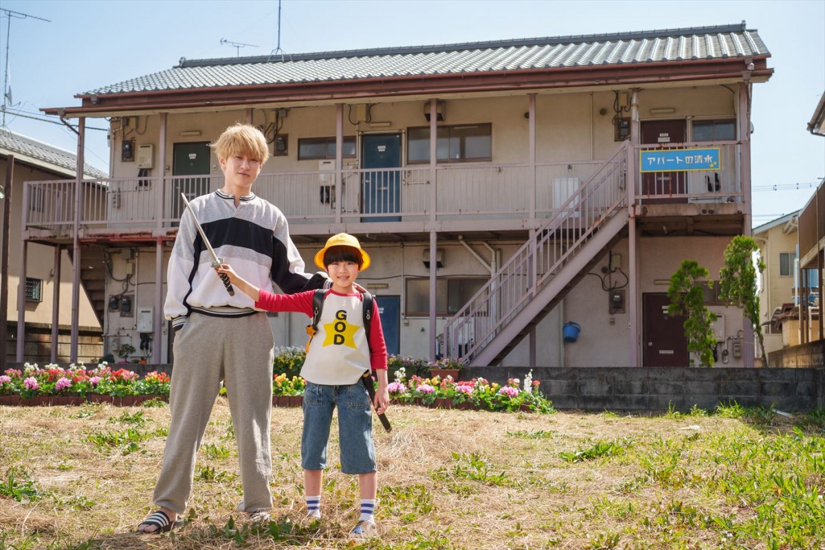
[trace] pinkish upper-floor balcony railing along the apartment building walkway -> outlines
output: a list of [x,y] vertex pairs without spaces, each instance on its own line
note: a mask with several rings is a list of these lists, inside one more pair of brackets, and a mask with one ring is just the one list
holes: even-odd
[[[639,201],[739,202],[742,200],[737,143],[684,143],[720,148],[716,171],[674,172],[660,176],[635,173]],[[638,158],[638,146],[630,149]],[[431,219],[547,219],[554,216],[603,161],[510,164],[450,164],[384,169],[345,168],[341,190],[336,172],[262,173],[254,192],[276,204],[300,231],[302,224]],[[636,162],[633,162],[633,166]],[[27,181],[26,229],[66,234],[79,230],[134,231],[173,228],[181,217],[181,193],[188,198],[224,185],[223,176],[166,176],[84,180]],[[159,190],[158,190],[159,189]],[[340,201],[340,204],[338,204]],[[160,213],[160,214],[158,214]]]

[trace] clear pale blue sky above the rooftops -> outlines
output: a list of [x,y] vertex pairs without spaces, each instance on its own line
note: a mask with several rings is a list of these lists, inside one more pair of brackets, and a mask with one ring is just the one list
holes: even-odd
[[[300,54],[747,21],[775,69],[753,92],[754,226],[803,208],[825,177],[825,138],[807,129],[825,92],[825,0],[282,0],[280,36],[277,0],[2,0],[0,10],[30,16],[0,13],[0,78],[12,88],[5,125],[72,152],[70,129],[31,117],[181,57],[267,55],[279,40]],[[105,128],[87,119],[86,161],[104,171]]]

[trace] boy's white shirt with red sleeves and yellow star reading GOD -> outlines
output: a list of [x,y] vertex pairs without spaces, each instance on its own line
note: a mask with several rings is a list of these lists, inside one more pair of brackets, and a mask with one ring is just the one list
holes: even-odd
[[[305,313],[311,318],[313,295],[313,290],[292,295],[262,290],[255,307],[267,311]],[[312,383],[338,386],[358,382],[369,368],[386,369],[387,344],[376,300],[373,300],[369,345],[363,325],[364,300],[361,294],[338,294],[328,290],[318,320],[318,333],[309,344],[301,376]]]

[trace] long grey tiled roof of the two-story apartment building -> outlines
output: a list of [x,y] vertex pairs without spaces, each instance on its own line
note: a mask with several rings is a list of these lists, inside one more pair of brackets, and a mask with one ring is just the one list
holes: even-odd
[[713,60],[770,55],[757,31],[739,25],[560,36],[465,44],[181,59],[177,67],[92,90],[84,95],[334,82],[537,68]]

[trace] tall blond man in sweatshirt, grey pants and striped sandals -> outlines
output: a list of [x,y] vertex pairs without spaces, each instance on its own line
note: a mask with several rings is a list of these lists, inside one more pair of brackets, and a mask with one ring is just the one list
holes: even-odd
[[[252,193],[269,157],[266,138],[252,125],[230,126],[212,144],[224,186],[191,200],[214,251],[250,280],[284,292],[318,289],[327,275],[304,273],[281,210]],[[159,509],[138,525],[141,533],[171,530],[186,510],[195,458],[224,379],[243,484],[238,510],[252,521],[268,519],[272,507],[270,416],[275,342],[266,313],[248,296],[230,296],[188,210],[172,248],[167,272],[166,318],[175,330],[175,360],[169,406],[172,421],[163,466],[154,491]]]

